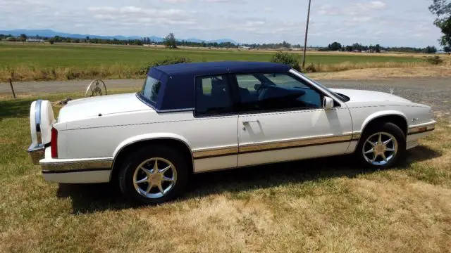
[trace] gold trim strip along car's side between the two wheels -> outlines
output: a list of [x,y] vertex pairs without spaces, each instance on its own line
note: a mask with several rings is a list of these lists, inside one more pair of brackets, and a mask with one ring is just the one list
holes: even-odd
[[267,143],[252,143],[238,147],[214,148],[209,150],[197,150],[193,152],[194,159],[205,159],[211,157],[220,157],[227,155],[237,155],[242,153],[263,152],[269,150],[278,150],[286,148],[302,148],[311,145],[326,145],[334,143],[343,143],[349,141],[359,141],[361,134],[346,134],[343,136],[327,136],[320,138],[308,138],[292,141],[276,141]]

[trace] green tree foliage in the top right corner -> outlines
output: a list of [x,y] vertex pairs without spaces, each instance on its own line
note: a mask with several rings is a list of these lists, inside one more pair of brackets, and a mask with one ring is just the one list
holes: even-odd
[[445,48],[451,47],[451,1],[433,0],[429,11],[437,16],[434,25],[442,30],[440,44]]

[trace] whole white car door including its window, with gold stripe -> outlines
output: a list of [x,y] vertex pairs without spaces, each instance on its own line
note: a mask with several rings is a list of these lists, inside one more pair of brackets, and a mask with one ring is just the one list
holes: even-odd
[[235,74],[240,106],[238,166],[346,153],[352,121],[345,104],[290,73]]

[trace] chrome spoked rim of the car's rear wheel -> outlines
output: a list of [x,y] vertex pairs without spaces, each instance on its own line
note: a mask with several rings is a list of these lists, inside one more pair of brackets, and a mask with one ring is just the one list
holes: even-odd
[[142,162],[133,174],[133,186],[140,195],[156,199],[167,195],[175,186],[177,170],[168,160],[154,157]]

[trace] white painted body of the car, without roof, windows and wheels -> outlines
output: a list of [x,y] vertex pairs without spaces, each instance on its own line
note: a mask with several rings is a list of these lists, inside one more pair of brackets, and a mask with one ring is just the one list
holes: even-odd
[[[342,102],[301,74],[290,72],[340,106],[330,110],[196,117],[193,110],[156,112],[135,93],[73,100],[61,109],[56,123],[50,122],[51,117],[43,123],[46,141],[50,141],[51,126],[58,130],[58,159],[51,158],[50,148],[45,148],[44,159],[39,164],[43,168],[65,169],[73,163],[86,162],[92,170],[44,174],[44,177],[61,183],[107,182],[115,157],[123,148],[140,141],[171,139],[184,143],[191,151],[193,172],[199,173],[353,153],[365,126],[373,119],[388,115],[406,120],[407,129],[402,130],[409,132],[407,148],[416,146],[419,138],[433,130],[435,121],[431,118],[431,108],[426,105],[388,93],[330,89],[351,98]],[[47,102],[43,113],[49,112]],[[35,103],[32,115],[34,106]],[[33,144],[38,139],[35,124],[30,117]],[[427,131],[414,134],[418,129]],[[106,169],[93,170],[97,164]]]

